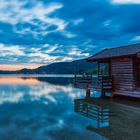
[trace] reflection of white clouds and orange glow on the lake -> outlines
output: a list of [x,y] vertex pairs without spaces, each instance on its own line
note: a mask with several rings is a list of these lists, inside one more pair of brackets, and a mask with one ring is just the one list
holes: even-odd
[[[0,78],[0,104],[24,101],[39,101],[46,105],[49,102],[57,104],[61,100],[65,100],[64,94],[72,100],[82,94],[84,95],[84,91],[75,89],[70,85],[53,85],[48,82],[42,82],[37,78]],[[61,100],[58,100],[57,96]]]

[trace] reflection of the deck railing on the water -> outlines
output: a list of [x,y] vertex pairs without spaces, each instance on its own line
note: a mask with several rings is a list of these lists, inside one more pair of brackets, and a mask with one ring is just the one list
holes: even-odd
[[90,103],[87,99],[74,100],[74,111],[93,119],[95,128],[109,126],[109,109],[96,103]]

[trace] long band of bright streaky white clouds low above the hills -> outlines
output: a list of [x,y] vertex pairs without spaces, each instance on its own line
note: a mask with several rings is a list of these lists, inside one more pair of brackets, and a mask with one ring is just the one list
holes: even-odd
[[[82,53],[77,46],[72,46],[69,49],[67,46],[65,51],[63,46],[59,44],[51,45],[33,45],[33,46],[20,46],[20,45],[5,45],[0,44],[1,64],[6,62],[6,64],[49,64],[52,62],[60,61],[72,61],[77,58],[81,59],[89,55],[88,53]],[[28,48],[28,49],[27,49]],[[70,51],[69,51],[70,50]],[[54,53],[56,53],[54,55]],[[60,55],[61,53],[61,55]]]

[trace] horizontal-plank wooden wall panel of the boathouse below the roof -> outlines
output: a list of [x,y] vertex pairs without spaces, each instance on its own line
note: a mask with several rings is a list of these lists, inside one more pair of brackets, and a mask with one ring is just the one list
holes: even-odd
[[134,89],[133,59],[112,59],[111,66],[115,90]]

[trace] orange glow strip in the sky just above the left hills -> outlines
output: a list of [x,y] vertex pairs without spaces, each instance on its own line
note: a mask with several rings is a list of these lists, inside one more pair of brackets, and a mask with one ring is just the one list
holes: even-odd
[[39,66],[42,66],[41,64],[0,64],[0,70],[10,70],[10,71],[14,71],[14,70],[20,70],[23,68],[28,68],[28,69],[35,69]]

